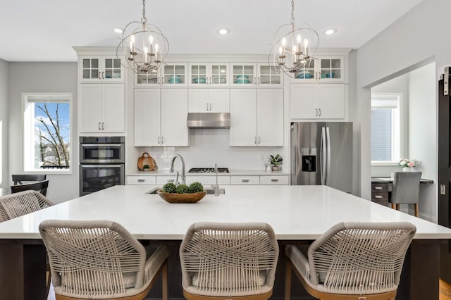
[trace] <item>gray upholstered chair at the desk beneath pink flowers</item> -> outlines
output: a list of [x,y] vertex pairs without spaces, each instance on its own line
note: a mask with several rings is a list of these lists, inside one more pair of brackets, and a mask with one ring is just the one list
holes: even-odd
[[414,204],[415,216],[418,217],[421,172],[395,172],[392,196],[388,201],[392,208],[399,211],[400,204]]

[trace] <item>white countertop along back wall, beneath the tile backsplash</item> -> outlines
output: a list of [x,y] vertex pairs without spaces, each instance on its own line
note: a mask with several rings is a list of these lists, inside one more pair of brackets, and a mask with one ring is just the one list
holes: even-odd
[[[186,170],[186,176],[216,176],[216,173],[188,173]],[[175,176],[174,173],[170,173],[169,170],[154,170],[154,171],[136,171],[128,173],[127,176]],[[181,174],[181,171],[178,170]],[[274,176],[274,175],[289,175],[284,171],[266,172],[264,170],[229,170],[229,173],[218,173],[218,176]]]

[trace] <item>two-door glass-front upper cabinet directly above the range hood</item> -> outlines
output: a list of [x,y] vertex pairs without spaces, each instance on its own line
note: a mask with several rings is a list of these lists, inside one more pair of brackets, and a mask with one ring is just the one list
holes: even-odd
[[189,63],[188,85],[192,87],[228,87],[230,66],[228,63]]

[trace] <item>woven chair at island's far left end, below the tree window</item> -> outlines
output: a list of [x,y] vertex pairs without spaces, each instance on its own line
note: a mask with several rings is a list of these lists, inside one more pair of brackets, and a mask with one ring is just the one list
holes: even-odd
[[0,218],[4,221],[54,205],[35,190],[0,196]]

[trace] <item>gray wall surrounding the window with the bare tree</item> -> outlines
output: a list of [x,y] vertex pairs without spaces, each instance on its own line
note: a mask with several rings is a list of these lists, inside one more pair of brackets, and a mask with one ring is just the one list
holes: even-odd
[[[77,141],[77,63],[9,63],[8,122],[8,180],[11,174],[23,173],[22,93],[70,92],[72,106],[72,174],[55,174],[49,178],[47,196],[55,203],[78,196],[78,141]],[[1,88],[0,88],[1,90]],[[1,101],[0,101],[1,105]],[[8,185],[11,182],[8,181]]]

